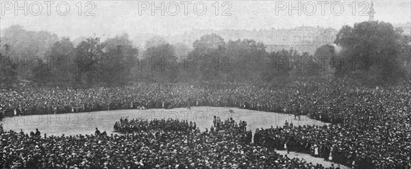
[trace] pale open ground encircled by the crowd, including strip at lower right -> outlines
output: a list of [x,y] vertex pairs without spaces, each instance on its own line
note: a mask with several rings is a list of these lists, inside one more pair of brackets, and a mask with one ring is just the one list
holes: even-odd
[[[234,114],[229,113],[229,109],[234,109]],[[121,117],[129,118],[178,118],[180,120],[187,119],[188,121],[196,122],[197,127],[201,131],[206,128],[210,129],[214,116],[219,116],[221,120],[232,117],[236,122],[240,120],[247,121],[247,129],[255,131],[257,128],[282,127],[286,120],[292,122],[293,125],[324,125],[325,123],[319,120],[312,120],[306,116],[301,116],[301,120],[295,120],[294,116],[288,114],[278,114],[273,112],[259,112],[248,109],[238,109],[234,107],[191,107],[191,110],[186,108],[176,109],[125,109],[103,112],[86,112],[75,114],[44,114],[36,116],[14,116],[4,118],[1,122],[5,131],[14,130],[20,131],[23,129],[25,133],[40,130],[42,135],[90,135],[94,134],[95,128],[98,127],[101,132],[106,131],[109,135],[113,133],[114,122]],[[116,133],[114,133],[116,134]],[[285,151],[278,151],[282,155],[286,155]],[[332,163],[323,161],[323,159],[315,158],[310,155],[291,152],[288,157],[297,157],[306,159],[313,164],[319,163],[324,166],[331,166]],[[347,168],[340,166],[341,168]]]

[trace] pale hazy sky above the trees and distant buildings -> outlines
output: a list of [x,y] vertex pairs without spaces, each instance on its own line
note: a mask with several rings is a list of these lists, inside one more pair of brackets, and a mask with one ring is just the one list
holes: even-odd
[[[368,16],[361,12],[368,12],[371,1],[219,1],[218,5],[216,1],[81,1],[81,5],[79,1],[0,2],[1,29],[18,24],[29,30],[47,30],[58,36],[77,38],[92,34],[115,36],[124,32],[131,36],[145,33],[167,35],[182,34],[191,29],[258,30],[301,25],[339,29],[343,25],[368,20]],[[19,9],[16,5],[21,9],[16,10]],[[164,8],[154,10],[152,14],[153,5]],[[217,14],[216,6],[219,6]],[[341,6],[343,10],[340,10]],[[375,20],[411,21],[411,0],[374,1],[374,8]],[[86,16],[87,10],[94,16]]]

